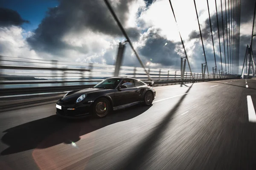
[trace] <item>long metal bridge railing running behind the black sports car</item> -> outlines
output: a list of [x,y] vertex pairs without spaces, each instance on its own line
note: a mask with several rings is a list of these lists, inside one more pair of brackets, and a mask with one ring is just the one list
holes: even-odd
[[[96,63],[65,62],[56,60],[27,59],[0,56],[0,96],[5,91],[28,91],[31,88],[78,88],[95,85],[105,78],[113,77],[115,65]],[[188,80],[230,79],[233,75],[213,75],[147,68],[155,84],[186,82]],[[143,68],[121,66],[120,77],[148,80]],[[18,90],[19,89],[19,90]],[[23,90],[22,90],[23,89]],[[12,93],[13,94],[13,93]]]

